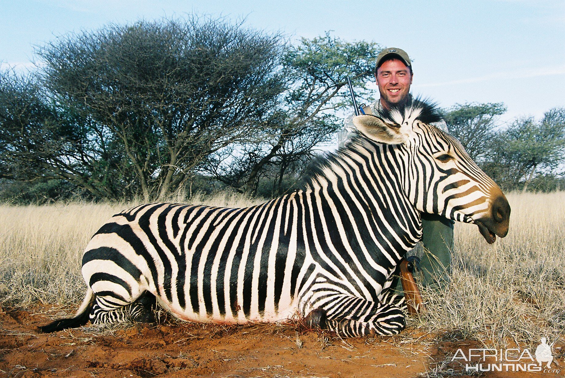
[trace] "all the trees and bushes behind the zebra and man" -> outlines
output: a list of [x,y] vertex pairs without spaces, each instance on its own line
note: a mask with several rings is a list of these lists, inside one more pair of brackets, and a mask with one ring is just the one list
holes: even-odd
[[[347,77],[373,100],[380,50],[194,15],[67,34],[37,49],[37,72],[0,72],[0,199],[283,194],[342,128]],[[559,187],[564,108],[497,128],[505,111],[455,104],[446,123],[501,186]]]

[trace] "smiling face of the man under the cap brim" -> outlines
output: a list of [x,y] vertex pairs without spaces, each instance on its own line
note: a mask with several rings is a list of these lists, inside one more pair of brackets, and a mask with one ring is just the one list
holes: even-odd
[[381,103],[386,108],[401,102],[410,92],[412,74],[410,68],[406,67],[401,60],[390,59],[385,61],[377,69],[375,77],[381,93]]

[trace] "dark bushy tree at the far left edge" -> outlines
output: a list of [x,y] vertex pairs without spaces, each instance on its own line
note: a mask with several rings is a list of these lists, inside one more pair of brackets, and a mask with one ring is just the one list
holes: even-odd
[[115,159],[105,140],[88,138],[88,120],[46,101],[33,76],[0,72],[0,178],[62,178],[98,197],[117,179],[102,161]]

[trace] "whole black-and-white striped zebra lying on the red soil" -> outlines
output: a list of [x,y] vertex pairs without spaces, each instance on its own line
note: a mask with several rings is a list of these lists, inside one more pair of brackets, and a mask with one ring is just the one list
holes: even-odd
[[410,99],[354,118],[357,135],[316,162],[289,194],[247,208],[152,203],[113,216],[82,257],[75,317],[44,332],[125,319],[148,304],[192,322],[298,317],[340,336],[394,335],[405,302],[388,288],[421,238],[420,212],[475,223],[488,243],[510,206],[457,139]]

